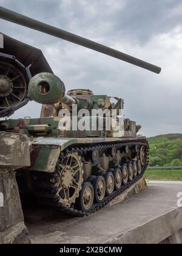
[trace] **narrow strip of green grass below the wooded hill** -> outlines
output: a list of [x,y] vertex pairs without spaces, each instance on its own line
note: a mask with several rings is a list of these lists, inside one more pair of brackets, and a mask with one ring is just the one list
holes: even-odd
[[146,170],[144,178],[149,180],[181,180],[182,169],[152,169]]

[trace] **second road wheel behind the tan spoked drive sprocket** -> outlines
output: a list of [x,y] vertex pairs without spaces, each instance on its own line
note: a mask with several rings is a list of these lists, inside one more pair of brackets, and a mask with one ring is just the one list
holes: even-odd
[[103,176],[97,176],[93,180],[93,188],[95,192],[95,201],[102,202],[106,194],[106,181]]

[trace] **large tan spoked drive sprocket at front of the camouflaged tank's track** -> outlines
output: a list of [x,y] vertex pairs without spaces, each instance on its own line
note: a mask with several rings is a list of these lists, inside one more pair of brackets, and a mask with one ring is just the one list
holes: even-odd
[[59,202],[70,207],[75,204],[76,198],[83,183],[83,163],[76,153],[69,153],[59,163],[58,169],[58,196]]

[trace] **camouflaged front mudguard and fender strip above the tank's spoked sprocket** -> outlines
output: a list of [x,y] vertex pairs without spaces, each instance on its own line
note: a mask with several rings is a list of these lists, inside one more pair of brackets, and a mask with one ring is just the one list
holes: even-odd
[[[146,137],[133,138],[52,138],[38,137],[31,144],[31,167],[33,171],[54,172],[61,152],[74,146],[99,146],[107,143],[146,142]],[[46,157],[45,157],[46,155]]]

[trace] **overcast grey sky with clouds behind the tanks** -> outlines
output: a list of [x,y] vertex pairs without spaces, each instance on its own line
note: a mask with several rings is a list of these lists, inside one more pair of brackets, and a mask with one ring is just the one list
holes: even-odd
[[[182,132],[181,0],[0,0],[8,9],[161,66],[160,74],[0,20],[0,32],[42,49],[71,88],[124,99],[127,118],[147,137]],[[12,118],[39,116],[30,102]]]

